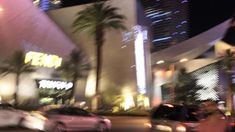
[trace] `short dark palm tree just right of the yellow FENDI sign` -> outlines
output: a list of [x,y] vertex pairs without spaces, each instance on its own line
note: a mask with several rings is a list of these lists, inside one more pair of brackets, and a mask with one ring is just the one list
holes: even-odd
[[73,50],[67,61],[64,61],[57,69],[65,78],[71,79],[73,82],[70,99],[73,98],[76,82],[79,78],[85,77],[90,70],[90,64],[86,62],[84,55],[79,50]]

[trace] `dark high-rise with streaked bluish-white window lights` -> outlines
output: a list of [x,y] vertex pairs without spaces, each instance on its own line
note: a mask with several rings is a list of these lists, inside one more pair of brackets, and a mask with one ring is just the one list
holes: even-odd
[[152,52],[175,45],[188,38],[187,0],[141,0],[146,17],[151,20]]

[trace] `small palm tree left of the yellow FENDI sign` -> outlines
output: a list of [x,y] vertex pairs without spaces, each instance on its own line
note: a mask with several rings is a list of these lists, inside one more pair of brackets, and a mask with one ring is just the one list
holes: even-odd
[[5,60],[3,64],[0,66],[0,74],[3,76],[13,73],[16,75],[15,79],[15,93],[14,93],[14,105],[18,105],[18,90],[19,90],[19,82],[20,75],[22,73],[31,73],[34,72],[35,69],[29,63],[25,63],[25,53],[21,50],[16,51],[9,59]]

